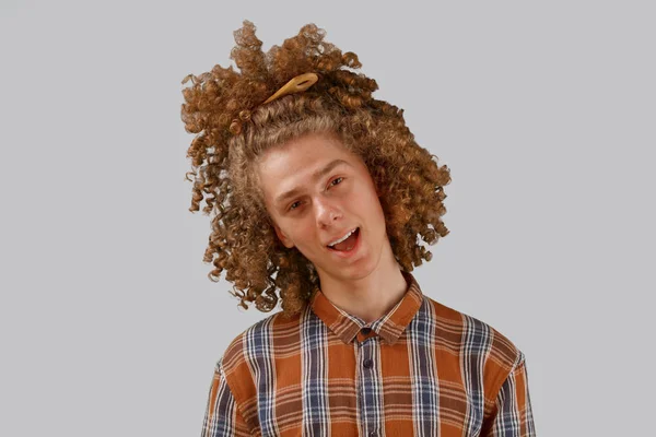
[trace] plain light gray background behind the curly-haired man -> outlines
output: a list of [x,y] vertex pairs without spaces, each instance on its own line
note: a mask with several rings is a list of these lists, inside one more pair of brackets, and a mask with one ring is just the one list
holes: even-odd
[[449,166],[414,274],[524,351],[538,434],[648,435],[652,4],[2,0],[0,435],[199,435],[214,362],[269,316],[207,279],[184,180],[180,82],[244,19],[265,49],[325,28]]

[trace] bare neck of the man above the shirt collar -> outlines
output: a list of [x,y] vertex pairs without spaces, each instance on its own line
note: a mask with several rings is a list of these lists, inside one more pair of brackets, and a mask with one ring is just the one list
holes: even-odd
[[394,308],[407,290],[408,283],[394,257],[391,265],[379,265],[368,276],[358,281],[343,283],[333,279],[321,279],[321,293],[326,298],[366,323],[379,319]]

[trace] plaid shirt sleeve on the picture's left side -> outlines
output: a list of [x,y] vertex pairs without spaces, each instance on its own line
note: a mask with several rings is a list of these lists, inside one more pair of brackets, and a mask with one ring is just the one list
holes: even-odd
[[250,436],[246,421],[230,391],[222,368],[222,359],[214,366],[214,376],[208,394],[208,404],[201,437]]

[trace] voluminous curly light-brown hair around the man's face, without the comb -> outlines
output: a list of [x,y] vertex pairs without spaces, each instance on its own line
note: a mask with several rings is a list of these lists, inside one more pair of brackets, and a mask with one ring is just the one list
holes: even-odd
[[[232,66],[215,66],[183,90],[181,119],[196,133],[187,151],[194,182],[189,211],[211,214],[203,260],[214,269],[210,280],[233,282],[238,305],[255,302],[271,311],[280,293],[284,316],[298,314],[320,284],[312,262],[279,240],[266,210],[257,165],[270,147],[308,133],[338,135],[366,164],[385,213],[387,235],[398,263],[410,272],[430,261],[421,239],[434,245],[448,234],[443,187],[446,165],[421,147],[406,127],[402,109],[372,97],[376,81],[352,70],[362,67],[351,51],[324,40],[325,31],[307,24],[268,52],[244,21],[234,32]],[[262,105],[290,79],[314,72],[319,80],[307,91]],[[421,239],[419,238],[421,236]]]

